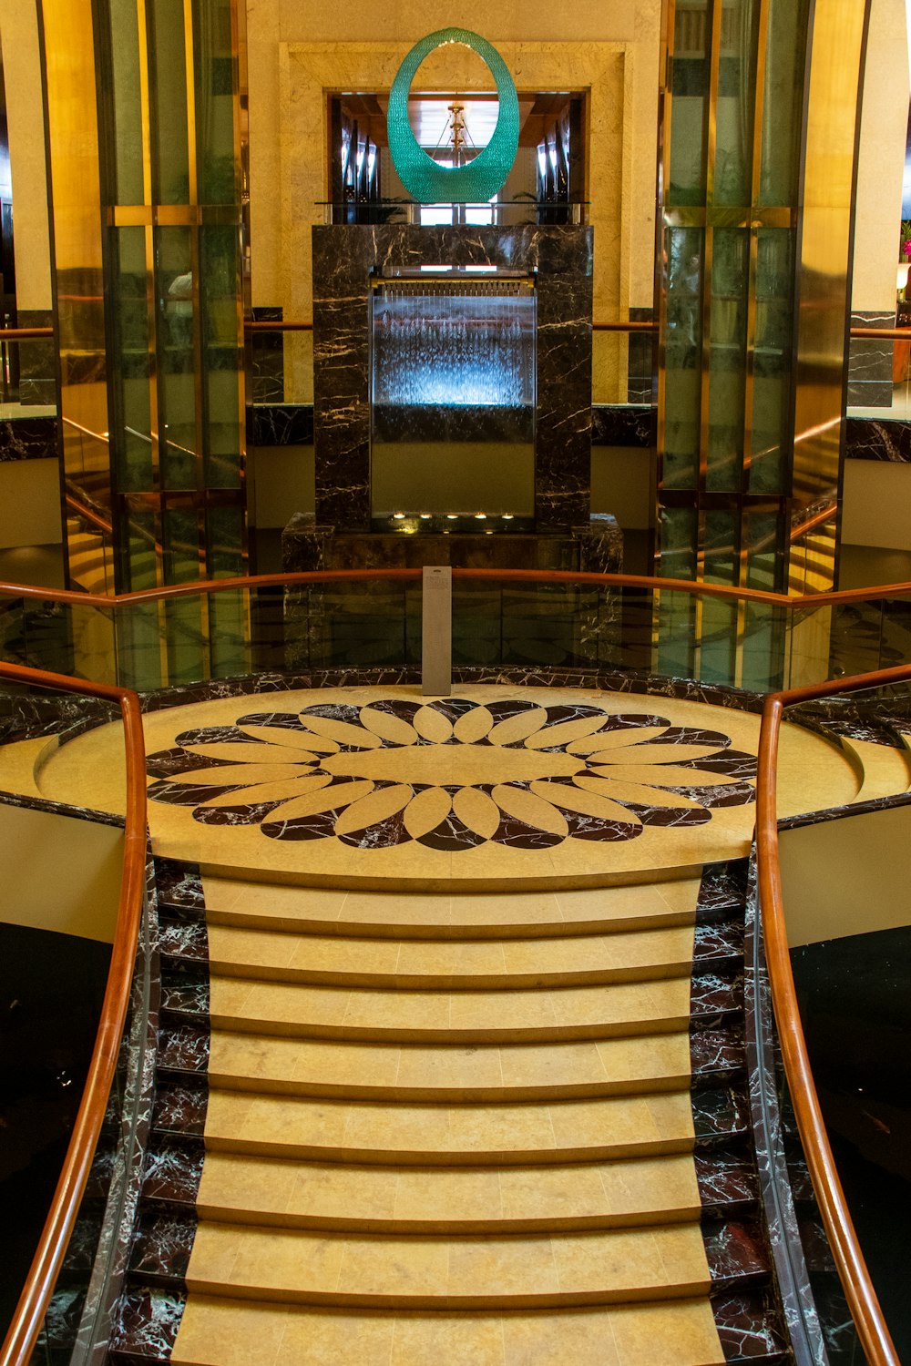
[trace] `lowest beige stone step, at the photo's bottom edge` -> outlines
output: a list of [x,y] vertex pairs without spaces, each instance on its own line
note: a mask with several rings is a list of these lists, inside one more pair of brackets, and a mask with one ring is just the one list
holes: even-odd
[[721,1366],[706,1299],[598,1309],[378,1310],[194,1295],[173,1366]]

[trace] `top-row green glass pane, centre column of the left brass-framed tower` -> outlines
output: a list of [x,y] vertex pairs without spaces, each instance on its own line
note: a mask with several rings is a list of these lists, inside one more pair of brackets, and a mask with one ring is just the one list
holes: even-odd
[[183,0],[146,0],[146,5],[153,137],[152,202],[190,204]]

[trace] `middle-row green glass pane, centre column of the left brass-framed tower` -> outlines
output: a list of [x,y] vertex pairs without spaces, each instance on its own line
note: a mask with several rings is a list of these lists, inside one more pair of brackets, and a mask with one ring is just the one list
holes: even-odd
[[190,228],[156,228],[154,247],[161,482],[165,489],[195,489],[197,392],[193,332],[197,305]]

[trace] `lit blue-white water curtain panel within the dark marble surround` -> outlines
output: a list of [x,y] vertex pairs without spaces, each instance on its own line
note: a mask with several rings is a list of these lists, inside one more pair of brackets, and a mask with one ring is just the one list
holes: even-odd
[[534,279],[422,272],[373,284],[374,522],[533,515]]

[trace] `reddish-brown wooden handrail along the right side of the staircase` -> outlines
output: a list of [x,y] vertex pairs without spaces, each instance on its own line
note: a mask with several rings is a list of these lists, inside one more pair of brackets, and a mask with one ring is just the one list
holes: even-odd
[[779,826],[776,817],[776,776],[781,716],[785,706],[832,697],[836,693],[882,687],[888,683],[911,680],[911,665],[878,669],[852,678],[817,683],[811,687],[791,688],[770,694],[762,710],[759,729],[759,759],[757,772],[757,872],[759,907],[765,937],[772,1004],[781,1042],[784,1064],[794,1113],[803,1143],[803,1152],[813,1180],[829,1247],[851,1310],[860,1347],[869,1366],[901,1366],[870,1273],[854,1229],[837,1167],[819,1108],[806,1038],[800,1023],[788,936],[784,923],[784,897],[779,865]]

